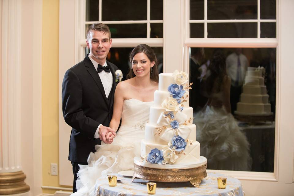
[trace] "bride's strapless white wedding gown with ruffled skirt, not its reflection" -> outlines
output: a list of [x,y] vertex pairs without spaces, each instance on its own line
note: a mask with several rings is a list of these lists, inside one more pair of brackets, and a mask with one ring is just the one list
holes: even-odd
[[122,124],[116,137],[111,144],[96,145],[96,152],[89,155],[88,165],[80,165],[76,183],[78,191],[72,196],[95,195],[98,177],[134,168],[134,157],[140,156],[141,140],[145,136],[152,104],[136,99],[123,102]]

